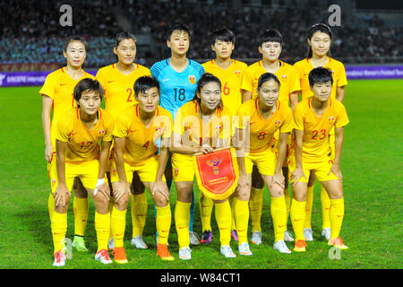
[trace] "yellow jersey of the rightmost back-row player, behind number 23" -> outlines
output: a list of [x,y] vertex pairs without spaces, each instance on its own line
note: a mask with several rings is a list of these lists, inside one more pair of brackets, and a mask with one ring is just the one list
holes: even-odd
[[[314,67],[308,58],[296,62],[294,66],[296,67],[296,72],[298,73],[298,78],[301,83],[302,100],[308,99],[313,96],[313,91],[311,91],[311,87],[309,86],[308,75]],[[324,67],[328,68],[333,76],[330,99],[334,100],[336,99],[337,88],[347,85],[346,69],[343,63],[331,57],[328,57],[328,63]]]

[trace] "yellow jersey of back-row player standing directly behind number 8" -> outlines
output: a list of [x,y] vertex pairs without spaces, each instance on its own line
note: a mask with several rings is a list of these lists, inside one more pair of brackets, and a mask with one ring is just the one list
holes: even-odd
[[[282,61],[279,61],[279,64],[279,70],[274,73],[280,82],[279,101],[288,106],[289,94],[294,91],[300,91],[301,86],[299,84],[296,69],[292,65],[288,65]],[[246,68],[242,79],[241,89],[244,91],[251,91],[252,99],[258,98],[257,87],[259,77],[265,73],[268,72],[264,69],[262,60]]]

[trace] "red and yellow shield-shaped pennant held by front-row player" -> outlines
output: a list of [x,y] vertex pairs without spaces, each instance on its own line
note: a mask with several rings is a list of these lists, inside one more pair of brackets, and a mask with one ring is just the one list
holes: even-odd
[[235,149],[226,148],[193,157],[199,189],[204,196],[223,200],[231,196],[238,183]]

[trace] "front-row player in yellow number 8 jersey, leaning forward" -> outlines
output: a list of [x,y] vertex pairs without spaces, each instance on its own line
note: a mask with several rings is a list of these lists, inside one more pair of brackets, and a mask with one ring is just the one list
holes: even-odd
[[[241,147],[243,153],[245,152],[237,158],[240,188],[236,196],[235,218],[239,250],[241,254],[242,250],[249,253],[245,255],[252,255],[247,248],[247,230],[251,174],[255,165],[270,190],[270,210],[275,234],[273,248],[280,253],[291,253],[284,241],[287,204],[284,196],[285,178],[281,169],[287,154],[287,137],[294,128],[293,113],[279,100],[280,82],[275,74],[262,74],[257,91],[258,98],[244,102],[236,113],[239,120],[236,138],[242,139]],[[279,147],[276,156],[272,142],[278,131]],[[244,133],[247,135],[242,136]]]

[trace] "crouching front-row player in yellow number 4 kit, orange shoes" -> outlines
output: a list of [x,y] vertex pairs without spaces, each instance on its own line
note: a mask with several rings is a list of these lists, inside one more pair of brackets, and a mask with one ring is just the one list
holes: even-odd
[[[112,211],[114,257],[119,264],[127,263],[124,249],[125,214],[130,200],[133,172],[136,172],[157,206],[156,222],[159,234],[157,254],[163,260],[173,260],[174,257],[167,249],[171,209],[164,178],[173,120],[166,109],[159,107],[157,79],[142,76],[136,80],[133,88],[138,103],[122,112],[116,120],[114,131],[115,164],[111,168],[111,182],[115,196]],[[155,142],[161,136],[159,152]]]

